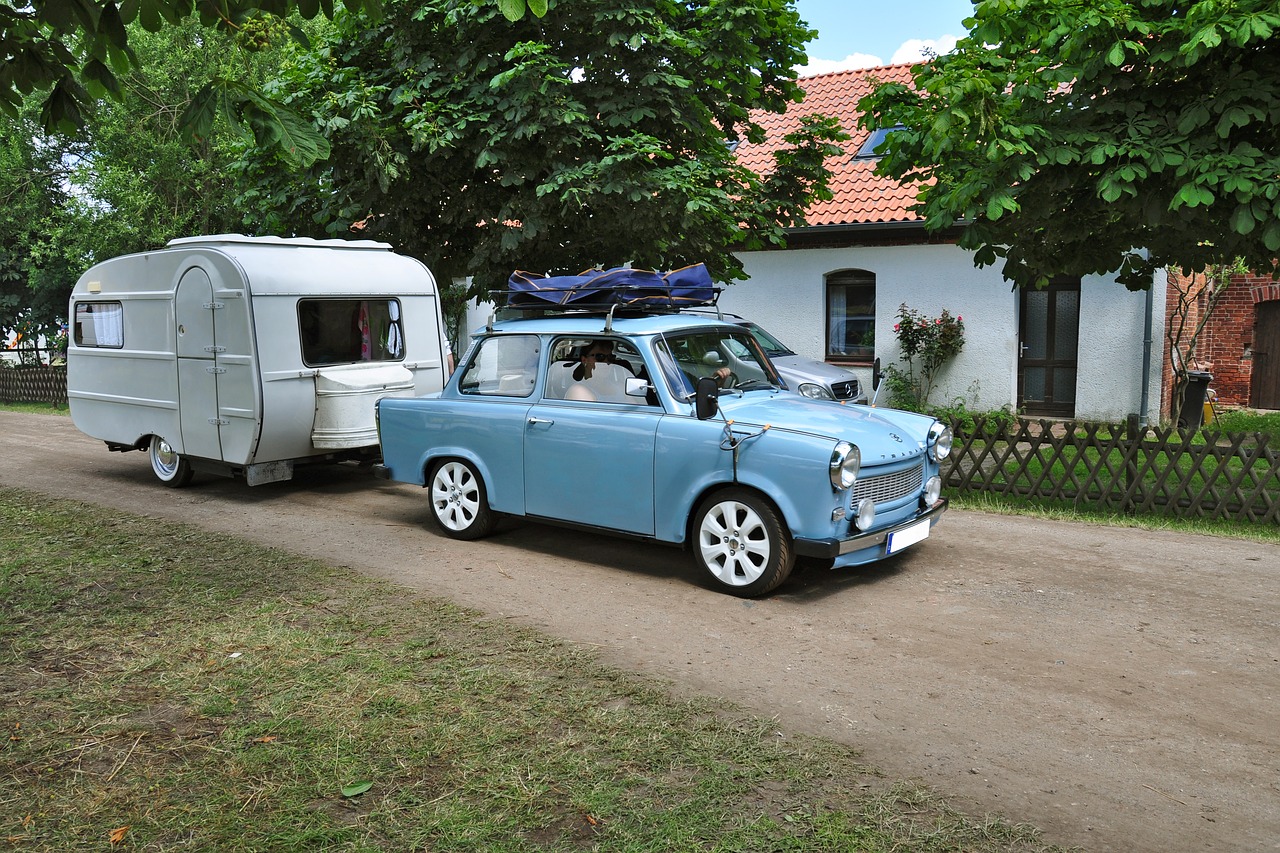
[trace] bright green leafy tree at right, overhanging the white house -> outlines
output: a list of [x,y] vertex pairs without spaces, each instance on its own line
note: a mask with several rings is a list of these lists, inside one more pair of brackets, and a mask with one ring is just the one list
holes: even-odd
[[879,172],[1019,286],[1280,252],[1275,0],[980,0],[954,54],[865,97]]

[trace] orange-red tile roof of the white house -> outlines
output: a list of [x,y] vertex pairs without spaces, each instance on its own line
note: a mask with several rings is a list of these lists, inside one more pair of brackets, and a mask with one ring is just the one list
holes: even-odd
[[856,223],[920,222],[908,210],[915,204],[915,190],[892,178],[872,174],[876,160],[855,160],[858,149],[869,131],[858,127],[858,100],[869,95],[879,83],[911,82],[910,65],[883,65],[859,70],[803,77],[799,83],[805,99],[792,104],[787,113],[756,113],[753,118],[764,128],[767,138],[759,145],[742,142],[736,151],[739,161],[758,173],[773,167],[773,151],[786,145],[783,137],[799,129],[800,117],[822,113],[835,115],[852,138],[845,142],[845,156],[828,158],[831,169],[831,201],[818,201],[809,207],[810,225],[845,225]]

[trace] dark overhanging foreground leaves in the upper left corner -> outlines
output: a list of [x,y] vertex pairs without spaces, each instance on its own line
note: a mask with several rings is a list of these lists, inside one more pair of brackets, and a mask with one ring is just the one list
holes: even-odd
[[[349,9],[375,12],[379,0],[343,0]],[[23,100],[44,93],[46,132],[74,132],[100,97],[123,97],[120,74],[140,67],[131,38],[138,29],[160,32],[195,18],[210,31],[241,33],[257,47],[275,20],[288,14],[333,15],[333,0],[0,0],[0,110],[17,117]],[[296,28],[294,33],[301,35]],[[198,81],[200,92],[183,117],[188,136],[207,136],[218,117],[252,132],[257,145],[291,165],[325,156],[324,140],[279,102],[236,77]]]

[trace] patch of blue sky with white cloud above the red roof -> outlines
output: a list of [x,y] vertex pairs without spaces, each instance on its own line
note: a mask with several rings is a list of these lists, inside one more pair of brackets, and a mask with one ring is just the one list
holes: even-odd
[[925,47],[945,54],[965,35],[970,0],[795,0],[817,29],[801,76],[911,63]]

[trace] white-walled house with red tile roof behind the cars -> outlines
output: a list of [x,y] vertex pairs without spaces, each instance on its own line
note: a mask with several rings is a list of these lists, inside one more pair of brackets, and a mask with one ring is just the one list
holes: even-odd
[[899,306],[928,316],[946,309],[964,318],[965,345],[943,368],[932,403],[1158,421],[1165,275],[1139,293],[1110,277],[1020,292],[998,266],[974,266],[954,236],[927,233],[909,210],[914,190],[873,173],[878,140],[858,128],[859,99],[879,82],[910,79],[910,65],[803,78],[801,104],[755,117],[765,141],[742,142],[736,154],[758,172],[803,115],[835,115],[852,138],[845,156],[827,163],[833,199],[809,209],[785,250],[740,252],[749,278],[726,288],[721,306],[760,320],[800,355],[851,369],[868,388],[876,359],[899,359]]

